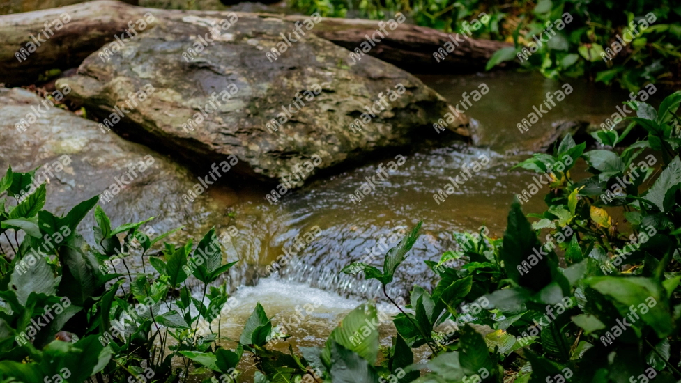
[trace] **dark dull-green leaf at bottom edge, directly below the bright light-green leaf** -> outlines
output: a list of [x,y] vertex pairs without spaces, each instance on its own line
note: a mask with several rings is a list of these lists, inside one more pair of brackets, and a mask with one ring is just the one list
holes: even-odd
[[331,368],[329,375],[334,383],[378,383],[378,374],[366,359],[330,339]]

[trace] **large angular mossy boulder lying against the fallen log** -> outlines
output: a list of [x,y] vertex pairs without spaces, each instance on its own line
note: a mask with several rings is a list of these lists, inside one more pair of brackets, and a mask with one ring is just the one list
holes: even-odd
[[[91,54],[57,86],[150,146],[199,163],[236,155],[236,173],[268,181],[298,174],[298,185],[434,132],[431,123],[447,113],[441,95],[371,56],[351,63],[346,49],[307,31],[314,22],[298,23],[307,33],[287,43],[282,36],[295,40],[296,25],[278,18],[166,13],[120,52],[112,43]],[[464,124],[461,116],[450,127],[466,135]]]

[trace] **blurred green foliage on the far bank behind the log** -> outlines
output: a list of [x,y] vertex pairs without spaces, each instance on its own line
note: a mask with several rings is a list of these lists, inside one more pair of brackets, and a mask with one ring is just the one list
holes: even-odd
[[[521,68],[553,79],[588,77],[604,84],[618,82],[629,91],[648,82],[674,84],[681,76],[681,6],[671,0],[291,0],[290,5],[308,15],[319,12],[328,17],[350,12],[385,19],[401,12],[415,24],[447,33],[513,42],[514,47],[490,58],[488,70],[516,61]],[[651,12],[655,21],[641,28],[641,19]],[[565,13],[571,16],[563,27],[556,22]],[[545,33],[551,37],[546,39]],[[539,39],[542,42],[537,43]],[[519,61],[523,52],[531,54]]]

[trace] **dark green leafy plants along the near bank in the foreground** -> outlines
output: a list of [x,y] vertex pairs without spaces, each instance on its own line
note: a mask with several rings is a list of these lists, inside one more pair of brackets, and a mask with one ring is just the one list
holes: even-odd
[[[630,120],[648,137],[623,150],[585,151],[568,135],[553,155],[521,162],[550,173],[548,209],[526,216],[515,201],[502,238],[484,231],[459,236],[461,250],[426,262],[439,281],[432,292],[414,286],[408,311],[385,286],[420,224],[388,251],[383,269],[345,267],[377,279],[401,311],[392,320],[391,347],[378,345],[381,318],[372,302],[346,315],[324,347],[300,347],[300,354],[291,345],[289,352],[272,347],[287,336],[260,304],[238,341],[220,336],[219,325],[214,334],[210,323],[228,296],[224,285],[209,285],[234,265],[222,265],[215,230],[196,248],[191,241],[164,242],[148,256],[169,233],[151,240],[141,230],[147,221],[112,228],[95,208],[98,197],[56,216],[43,210],[45,185],[24,196],[33,175],[10,168],[0,179],[0,192],[16,200],[0,200],[0,234],[14,254],[0,258],[0,379],[178,382],[191,371],[229,382],[248,352],[259,370],[256,382],[676,382],[680,103],[678,92],[657,111],[632,105]],[[618,134],[606,134],[617,146]],[[573,180],[570,170],[580,158],[592,175]],[[88,244],[77,226],[93,208],[96,243]],[[125,256],[135,252],[155,272],[131,273]],[[125,272],[109,269],[116,259]],[[466,263],[454,269],[452,260]],[[201,299],[190,292],[190,278],[201,282]],[[429,361],[415,364],[413,349],[422,346]]]

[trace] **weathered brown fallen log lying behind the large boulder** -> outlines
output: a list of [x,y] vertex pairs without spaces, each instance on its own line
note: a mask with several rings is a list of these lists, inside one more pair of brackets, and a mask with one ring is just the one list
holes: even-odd
[[[74,68],[87,56],[135,25],[135,20],[187,15],[227,17],[229,11],[162,10],[132,6],[113,0],[97,0],[61,8],[0,16],[0,83],[31,84],[46,71]],[[275,17],[286,22],[305,16],[236,13],[243,17]],[[67,21],[68,19],[68,21]],[[153,24],[153,23],[151,23]],[[151,29],[151,28],[148,28]],[[346,49],[354,50],[378,29],[378,22],[362,19],[324,18],[314,33]],[[144,31],[140,31],[144,33]],[[462,36],[465,38],[465,36]],[[400,24],[367,54],[413,72],[470,72],[484,70],[503,42],[465,38],[444,61],[433,53],[452,36],[434,29]]]

